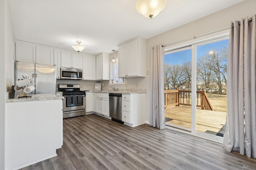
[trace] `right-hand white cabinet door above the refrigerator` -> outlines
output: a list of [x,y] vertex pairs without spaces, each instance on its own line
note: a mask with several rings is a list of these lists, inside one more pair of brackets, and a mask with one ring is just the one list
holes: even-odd
[[36,63],[38,64],[54,64],[54,51],[46,47],[36,47]]

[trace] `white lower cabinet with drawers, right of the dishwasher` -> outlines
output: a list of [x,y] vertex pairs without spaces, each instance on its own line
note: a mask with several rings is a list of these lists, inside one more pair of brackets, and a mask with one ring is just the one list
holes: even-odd
[[135,127],[145,123],[146,94],[122,94],[122,121]]

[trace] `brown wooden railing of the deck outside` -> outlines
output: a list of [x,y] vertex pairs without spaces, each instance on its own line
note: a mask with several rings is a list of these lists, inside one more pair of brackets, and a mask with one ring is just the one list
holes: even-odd
[[[192,106],[191,90],[164,90],[164,107]],[[204,90],[196,90],[196,107],[205,110],[214,110]]]

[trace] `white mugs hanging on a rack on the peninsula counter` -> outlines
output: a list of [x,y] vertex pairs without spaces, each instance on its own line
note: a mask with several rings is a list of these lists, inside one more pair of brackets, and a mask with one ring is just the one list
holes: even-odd
[[14,90],[17,92],[24,92],[24,96],[20,96],[18,98],[31,98],[31,96],[27,96],[27,93],[31,93],[35,90],[35,82],[34,80],[29,79],[27,76],[22,76],[21,79],[18,80],[17,85],[14,86]]

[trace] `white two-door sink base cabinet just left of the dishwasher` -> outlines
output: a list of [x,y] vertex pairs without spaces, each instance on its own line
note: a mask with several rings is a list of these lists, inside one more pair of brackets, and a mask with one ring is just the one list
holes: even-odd
[[108,94],[96,94],[96,112],[109,116],[109,97]]

